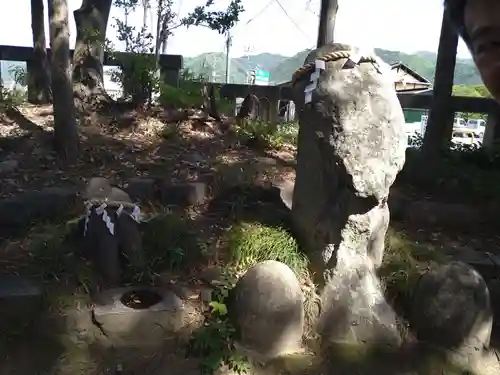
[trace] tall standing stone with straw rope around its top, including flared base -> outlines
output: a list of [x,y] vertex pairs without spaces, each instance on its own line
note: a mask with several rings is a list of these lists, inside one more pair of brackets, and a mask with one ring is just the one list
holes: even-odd
[[390,71],[373,51],[326,45],[294,75],[294,91],[300,129],[292,215],[325,283],[319,332],[327,342],[397,345],[396,315],[375,275],[407,142]]

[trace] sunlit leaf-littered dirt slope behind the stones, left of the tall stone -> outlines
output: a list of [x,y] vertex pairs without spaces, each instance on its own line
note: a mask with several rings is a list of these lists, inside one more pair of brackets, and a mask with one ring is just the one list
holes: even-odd
[[[78,161],[64,166],[51,147],[51,106],[24,105],[0,113],[0,160],[19,162],[3,178],[0,196],[43,186],[81,186],[93,176],[118,184],[136,176],[193,181],[213,172],[216,164],[255,157],[235,139],[216,134],[213,123],[196,114],[131,111],[114,117],[87,116],[79,122]],[[166,124],[175,129],[171,137],[165,134]]]

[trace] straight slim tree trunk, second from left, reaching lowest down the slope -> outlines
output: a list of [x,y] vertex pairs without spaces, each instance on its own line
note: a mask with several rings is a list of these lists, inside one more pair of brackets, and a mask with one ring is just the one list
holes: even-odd
[[78,132],[71,85],[67,0],[49,0],[54,138],[56,150],[68,162],[78,155]]

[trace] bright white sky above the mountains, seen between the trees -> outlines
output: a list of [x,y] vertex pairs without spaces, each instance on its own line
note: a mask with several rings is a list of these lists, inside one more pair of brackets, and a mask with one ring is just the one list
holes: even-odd
[[[76,32],[72,12],[80,7],[82,0],[67,1],[70,45],[73,47]],[[156,22],[156,1],[151,0],[152,9],[148,15],[151,26]],[[174,0],[173,9],[182,17],[204,2]],[[215,0],[213,9],[225,9],[228,3],[229,0]],[[242,3],[245,12],[232,30],[232,57],[262,52],[292,56],[315,46],[320,0],[242,0]],[[406,53],[436,52],[442,3],[442,0],[339,0],[335,40],[362,48],[384,48]],[[114,17],[122,18],[122,11],[116,8],[111,11],[107,34],[112,41],[116,41],[112,27]],[[139,28],[142,17],[142,9],[139,8],[130,16],[131,24]],[[47,30],[46,26],[48,35]],[[33,45],[29,1],[9,1],[9,6],[3,6],[0,12],[0,45]],[[167,53],[184,56],[224,50],[224,36],[204,27],[176,29],[167,47]],[[470,58],[463,42],[459,44],[458,57]]]

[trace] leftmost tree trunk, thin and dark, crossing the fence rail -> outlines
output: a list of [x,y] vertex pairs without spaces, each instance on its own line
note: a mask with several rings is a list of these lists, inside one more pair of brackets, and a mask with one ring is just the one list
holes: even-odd
[[33,60],[28,61],[28,101],[46,104],[51,101],[49,65],[45,42],[43,0],[31,0]]

